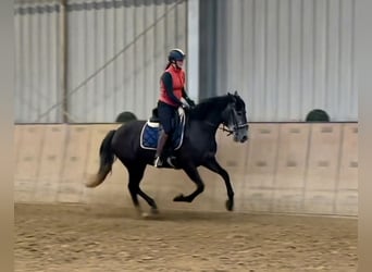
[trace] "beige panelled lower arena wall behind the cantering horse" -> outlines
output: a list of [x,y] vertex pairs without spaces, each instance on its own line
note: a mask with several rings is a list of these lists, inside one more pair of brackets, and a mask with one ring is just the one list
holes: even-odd
[[[15,126],[15,202],[133,207],[127,173],[116,161],[97,188],[98,149],[117,124]],[[247,144],[219,132],[218,160],[230,173],[236,212],[358,215],[357,123],[252,123]],[[142,189],[159,209],[225,211],[223,180],[200,168],[206,190],[193,203],[173,202],[194,190],[183,171],[147,168]],[[142,202],[142,206],[147,205]]]

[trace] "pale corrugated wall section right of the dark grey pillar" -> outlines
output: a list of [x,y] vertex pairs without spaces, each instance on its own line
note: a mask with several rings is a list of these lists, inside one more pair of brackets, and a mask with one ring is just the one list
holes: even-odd
[[333,121],[358,120],[355,0],[211,4],[218,92],[239,90],[250,121],[303,121],[314,108]]

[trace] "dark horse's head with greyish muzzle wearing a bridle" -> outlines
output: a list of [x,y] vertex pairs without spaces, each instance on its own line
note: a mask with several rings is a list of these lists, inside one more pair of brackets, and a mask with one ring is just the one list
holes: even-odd
[[222,112],[223,124],[234,134],[234,140],[245,143],[248,139],[248,121],[246,115],[246,103],[238,96],[227,94],[228,102]]

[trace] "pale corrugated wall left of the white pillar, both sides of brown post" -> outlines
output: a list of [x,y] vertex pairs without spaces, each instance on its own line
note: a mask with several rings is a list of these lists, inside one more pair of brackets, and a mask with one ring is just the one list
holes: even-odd
[[[66,2],[69,121],[150,116],[168,52],[187,50],[186,1]],[[60,15],[52,1],[15,4],[16,122],[63,120]]]

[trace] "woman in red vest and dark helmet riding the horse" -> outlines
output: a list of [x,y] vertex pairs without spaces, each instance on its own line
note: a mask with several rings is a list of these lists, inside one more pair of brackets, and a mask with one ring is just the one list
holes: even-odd
[[158,139],[158,148],[153,165],[162,165],[162,151],[172,133],[172,120],[176,116],[177,108],[194,107],[185,90],[185,71],[183,64],[186,54],[181,49],[172,49],[168,55],[168,64],[160,81],[160,97],[158,101],[158,115],[162,129]]

